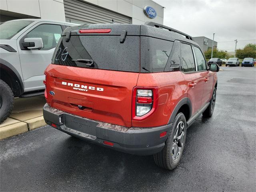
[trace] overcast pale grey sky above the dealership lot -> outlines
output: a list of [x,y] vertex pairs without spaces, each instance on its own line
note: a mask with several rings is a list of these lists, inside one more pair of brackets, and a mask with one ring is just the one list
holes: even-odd
[[[164,25],[190,36],[206,36],[218,49],[234,51],[256,44],[256,0],[154,0],[165,7]],[[252,41],[244,41],[252,40]],[[232,41],[232,42],[227,42]]]

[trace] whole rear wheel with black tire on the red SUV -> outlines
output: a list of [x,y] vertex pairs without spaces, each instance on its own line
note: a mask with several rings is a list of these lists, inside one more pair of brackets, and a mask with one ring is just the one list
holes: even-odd
[[164,148],[159,153],[154,154],[154,162],[157,166],[167,170],[172,170],[178,166],[185,146],[186,128],[186,118],[180,112],[175,116],[170,125],[170,131]]

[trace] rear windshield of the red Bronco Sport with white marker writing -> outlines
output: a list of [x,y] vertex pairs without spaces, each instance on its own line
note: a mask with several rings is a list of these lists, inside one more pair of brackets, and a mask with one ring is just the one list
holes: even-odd
[[[52,63],[66,66],[89,67],[117,71],[140,71],[140,37],[80,35],[71,36],[69,42],[62,37],[54,52]],[[93,65],[75,60],[92,60]],[[90,64],[90,62],[89,62]]]

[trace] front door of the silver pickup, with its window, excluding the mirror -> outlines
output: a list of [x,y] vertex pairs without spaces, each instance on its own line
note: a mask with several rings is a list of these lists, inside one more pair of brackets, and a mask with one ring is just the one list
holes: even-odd
[[[44,90],[44,70],[51,63],[55,46],[62,34],[61,24],[38,22],[17,40],[20,65],[24,79],[24,91]],[[24,38],[42,38],[44,48],[27,49],[22,46]]]

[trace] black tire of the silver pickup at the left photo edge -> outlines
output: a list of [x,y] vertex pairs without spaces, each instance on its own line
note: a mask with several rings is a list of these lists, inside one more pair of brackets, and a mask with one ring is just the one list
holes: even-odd
[[0,124],[7,119],[14,106],[12,89],[0,79]]

